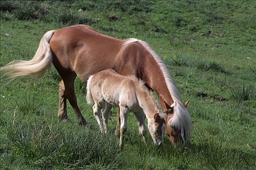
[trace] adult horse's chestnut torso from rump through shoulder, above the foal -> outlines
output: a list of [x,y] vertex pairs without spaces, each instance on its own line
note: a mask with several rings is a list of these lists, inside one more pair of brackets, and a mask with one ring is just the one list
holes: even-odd
[[86,82],[89,75],[113,68],[121,75],[135,75],[145,80],[145,62],[149,52],[138,42],[110,37],[87,25],[59,29],[50,41],[53,64],[61,77],[76,73]]

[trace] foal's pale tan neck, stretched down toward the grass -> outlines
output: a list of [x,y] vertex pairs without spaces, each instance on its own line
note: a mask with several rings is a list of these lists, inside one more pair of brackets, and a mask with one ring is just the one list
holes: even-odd
[[153,95],[149,92],[146,92],[146,90],[146,87],[138,86],[137,99],[139,106],[142,108],[147,119],[152,119],[155,113],[159,113],[159,108]]

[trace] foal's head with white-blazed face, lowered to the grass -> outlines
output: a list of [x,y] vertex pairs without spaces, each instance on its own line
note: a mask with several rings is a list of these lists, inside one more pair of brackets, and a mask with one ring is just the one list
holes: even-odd
[[163,135],[165,130],[165,120],[164,117],[159,113],[154,115],[154,119],[148,121],[148,130],[154,141],[155,145],[160,145],[163,143]]

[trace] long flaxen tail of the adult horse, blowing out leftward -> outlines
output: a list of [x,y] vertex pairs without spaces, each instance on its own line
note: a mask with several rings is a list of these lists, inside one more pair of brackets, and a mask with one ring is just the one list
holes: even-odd
[[38,50],[31,60],[13,61],[1,67],[0,70],[6,70],[7,74],[10,74],[10,78],[26,75],[43,76],[47,69],[51,67],[52,51],[49,42],[54,32],[55,30],[48,31],[43,35]]

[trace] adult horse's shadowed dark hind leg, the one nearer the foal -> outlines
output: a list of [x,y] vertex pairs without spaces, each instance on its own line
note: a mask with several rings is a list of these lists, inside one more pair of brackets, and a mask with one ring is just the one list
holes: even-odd
[[[65,97],[68,99],[70,105],[73,107],[73,109],[77,115],[79,125],[88,126],[88,124],[86,123],[86,120],[83,118],[83,116],[80,112],[80,109],[78,107],[77,97],[75,95],[74,82],[75,82],[76,76],[77,76],[76,74],[71,73],[71,74],[65,75],[65,77],[61,77],[63,80],[64,86],[65,86],[64,93],[65,93]],[[63,104],[64,103],[65,102],[63,102]],[[65,106],[63,108],[65,108]]]

